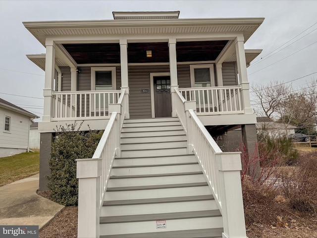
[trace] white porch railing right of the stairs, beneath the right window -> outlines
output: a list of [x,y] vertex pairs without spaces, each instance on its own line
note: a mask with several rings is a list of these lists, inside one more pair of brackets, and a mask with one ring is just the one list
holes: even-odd
[[243,114],[241,86],[180,88],[186,101],[196,101],[197,115]]

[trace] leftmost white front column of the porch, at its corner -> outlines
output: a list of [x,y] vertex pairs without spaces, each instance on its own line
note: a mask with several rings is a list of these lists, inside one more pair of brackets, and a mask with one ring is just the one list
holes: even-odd
[[55,43],[53,41],[46,42],[45,56],[45,83],[44,83],[44,112],[43,122],[51,121],[53,112],[53,85],[55,71]]

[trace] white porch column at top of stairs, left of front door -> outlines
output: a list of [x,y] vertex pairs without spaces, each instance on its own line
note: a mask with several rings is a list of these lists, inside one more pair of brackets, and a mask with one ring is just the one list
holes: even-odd
[[126,39],[121,39],[120,44],[120,66],[121,66],[121,89],[125,89],[125,118],[130,118],[129,113],[129,74],[128,74],[128,43]]

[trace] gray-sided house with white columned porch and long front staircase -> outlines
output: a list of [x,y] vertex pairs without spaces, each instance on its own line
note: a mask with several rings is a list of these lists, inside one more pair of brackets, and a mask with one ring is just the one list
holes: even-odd
[[[113,20],[23,22],[46,48],[40,189],[56,126],[105,129],[78,158],[78,237],[245,238],[240,153],[211,135],[256,116],[244,43],[264,18],[181,19],[179,11],[113,12]],[[209,132],[206,127],[209,128]]]

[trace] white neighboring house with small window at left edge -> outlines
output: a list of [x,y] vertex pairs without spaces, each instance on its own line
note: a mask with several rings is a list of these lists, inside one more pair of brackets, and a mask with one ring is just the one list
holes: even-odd
[[0,157],[29,150],[29,127],[38,116],[0,98]]

